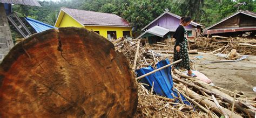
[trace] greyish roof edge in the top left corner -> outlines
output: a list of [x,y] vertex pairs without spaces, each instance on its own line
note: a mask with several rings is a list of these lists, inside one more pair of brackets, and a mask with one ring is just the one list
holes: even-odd
[[29,6],[41,6],[37,0],[0,0],[0,3],[23,4]]

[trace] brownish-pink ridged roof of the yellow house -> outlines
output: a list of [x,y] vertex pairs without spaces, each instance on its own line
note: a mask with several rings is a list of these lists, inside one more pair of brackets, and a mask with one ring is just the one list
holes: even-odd
[[95,11],[62,8],[62,10],[83,25],[130,26],[123,18]]

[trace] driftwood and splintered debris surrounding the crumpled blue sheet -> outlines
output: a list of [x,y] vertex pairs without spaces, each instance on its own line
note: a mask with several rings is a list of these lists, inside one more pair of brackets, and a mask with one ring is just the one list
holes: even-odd
[[[154,67],[157,61],[169,58],[170,54],[156,51],[159,45],[161,50],[171,51],[170,44],[156,44],[153,47],[140,44],[139,39],[119,39],[113,41],[116,50],[123,52],[130,60],[133,70],[151,65]],[[170,47],[170,50],[169,48]],[[159,48],[160,49],[160,48]],[[247,98],[241,93],[228,91],[224,88],[206,84],[204,81],[188,77],[178,70],[172,71],[174,87],[192,103],[187,106],[182,102],[174,102],[174,99],[158,96],[153,89],[147,90],[138,83],[138,107],[136,117],[254,117],[256,110],[255,98]],[[147,86],[147,85],[145,85]]]

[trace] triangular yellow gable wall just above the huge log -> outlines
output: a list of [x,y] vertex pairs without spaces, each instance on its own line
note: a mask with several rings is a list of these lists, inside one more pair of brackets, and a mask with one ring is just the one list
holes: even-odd
[[83,25],[81,25],[75,19],[73,19],[72,17],[70,17],[65,13],[58,27],[69,27],[69,26],[83,27]]

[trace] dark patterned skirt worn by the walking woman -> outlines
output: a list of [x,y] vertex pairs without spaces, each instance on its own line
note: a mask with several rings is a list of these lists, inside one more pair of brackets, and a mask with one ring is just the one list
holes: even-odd
[[177,61],[179,59],[182,59],[182,61],[180,61],[180,63],[178,64],[175,64],[174,67],[190,70],[190,58],[188,57],[187,51],[187,39],[184,38],[184,41],[182,41],[179,46],[179,52],[176,51],[176,46],[174,46],[173,60]]

